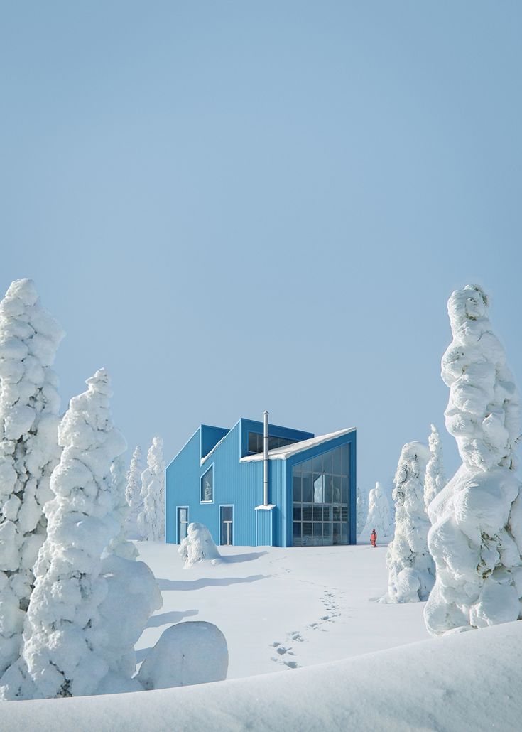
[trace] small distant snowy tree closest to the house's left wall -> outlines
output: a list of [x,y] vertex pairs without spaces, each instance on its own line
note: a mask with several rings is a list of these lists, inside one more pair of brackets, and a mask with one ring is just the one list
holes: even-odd
[[162,541],[165,536],[165,463],[161,437],[154,437],[148,449],[141,495],[143,511],[137,518],[141,534],[149,541]]

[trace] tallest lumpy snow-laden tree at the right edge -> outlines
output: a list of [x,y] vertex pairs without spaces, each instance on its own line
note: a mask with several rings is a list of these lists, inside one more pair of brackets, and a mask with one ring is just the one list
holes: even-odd
[[488,305],[477,285],[448,301],[445,417],[462,465],[428,509],[436,583],[424,619],[432,635],[521,618],[522,496],[514,472],[520,403]]

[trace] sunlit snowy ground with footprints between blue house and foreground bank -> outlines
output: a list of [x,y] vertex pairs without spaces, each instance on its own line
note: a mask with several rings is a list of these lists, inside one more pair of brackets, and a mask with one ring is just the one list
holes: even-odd
[[183,569],[177,546],[140,542],[163,607],[137,658],[169,625],[205,620],[224,632],[229,679],[335,661],[428,638],[423,604],[382,605],[386,548],[220,547],[222,564]]

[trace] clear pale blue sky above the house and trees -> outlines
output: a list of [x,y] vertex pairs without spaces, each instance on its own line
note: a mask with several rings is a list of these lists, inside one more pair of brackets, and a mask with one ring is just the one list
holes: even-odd
[[[518,1],[0,3],[0,285],[106,366],[129,447],[358,427],[359,483],[442,430],[465,283],[522,382]],[[449,468],[457,464],[445,436]]]

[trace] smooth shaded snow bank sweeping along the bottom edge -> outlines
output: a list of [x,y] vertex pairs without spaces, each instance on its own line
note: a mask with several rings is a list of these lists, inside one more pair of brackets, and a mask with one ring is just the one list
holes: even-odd
[[42,732],[515,730],[521,647],[522,623],[509,623],[290,673],[1,704],[0,728],[29,730],[38,720]]

